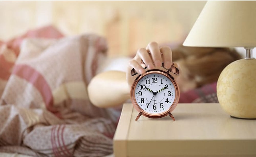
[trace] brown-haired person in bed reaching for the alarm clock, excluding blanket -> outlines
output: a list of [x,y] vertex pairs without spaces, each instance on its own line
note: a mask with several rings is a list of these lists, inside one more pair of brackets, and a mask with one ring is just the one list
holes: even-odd
[[114,107],[130,99],[131,84],[137,77],[130,75],[131,69],[134,68],[139,74],[145,73],[140,65],[141,59],[148,69],[161,69],[162,62],[165,68],[170,68],[174,61],[181,72],[176,78],[177,83],[180,92],[184,93],[216,82],[221,71],[239,58],[235,50],[228,48],[179,46],[172,52],[169,46],[159,48],[157,42],[150,42],[146,48],[138,49],[128,63],[126,74],[121,71],[105,71],[96,75],[88,86],[89,99],[98,107]]

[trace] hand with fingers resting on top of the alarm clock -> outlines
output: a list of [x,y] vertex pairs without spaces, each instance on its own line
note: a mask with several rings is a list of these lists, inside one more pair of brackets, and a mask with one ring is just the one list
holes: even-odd
[[[148,52],[150,52],[150,54],[148,54]],[[161,55],[161,53],[163,55]],[[129,62],[126,71],[126,80],[129,86],[131,86],[135,79],[135,77],[131,76],[132,68],[134,68],[138,74],[145,73],[145,69],[142,67],[141,60],[148,69],[159,69],[162,66],[162,62],[164,62],[164,67],[169,69],[172,65],[172,51],[168,46],[159,48],[157,42],[150,42],[146,49],[138,49],[136,56]]]

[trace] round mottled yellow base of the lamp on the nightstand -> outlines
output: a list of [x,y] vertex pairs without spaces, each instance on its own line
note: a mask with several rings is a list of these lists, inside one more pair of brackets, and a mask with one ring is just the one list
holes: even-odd
[[256,59],[240,59],[229,64],[217,82],[217,97],[231,117],[256,118]]

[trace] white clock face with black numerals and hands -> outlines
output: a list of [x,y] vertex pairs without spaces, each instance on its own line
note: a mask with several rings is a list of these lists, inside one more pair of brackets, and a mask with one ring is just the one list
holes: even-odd
[[168,77],[151,73],[138,81],[134,97],[138,106],[145,112],[160,114],[173,105],[175,94],[175,86]]

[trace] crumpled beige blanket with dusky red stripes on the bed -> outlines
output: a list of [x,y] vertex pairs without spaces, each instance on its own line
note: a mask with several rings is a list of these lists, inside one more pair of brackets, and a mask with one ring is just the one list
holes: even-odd
[[[104,38],[22,39],[0,49],[0,151],[32,156],[104,156],[120,111],[93,106],[87,85]],[[60,38],[60,39],[59,39]]]

